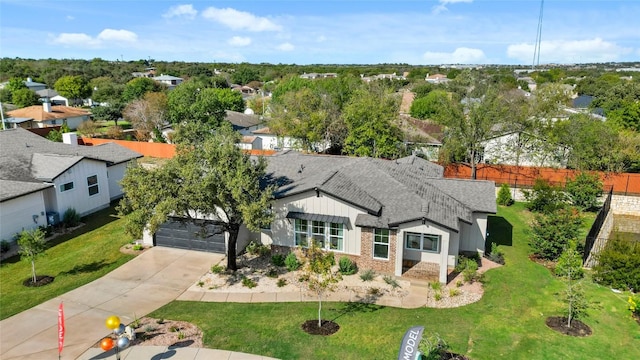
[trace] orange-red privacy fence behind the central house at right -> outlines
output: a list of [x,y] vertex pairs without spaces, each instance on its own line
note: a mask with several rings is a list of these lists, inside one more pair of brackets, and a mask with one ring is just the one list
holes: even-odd
[[[564,186],[567,180],[574,178],[579,171],[544,167],[526,167],[511,165],[478,164],[476,178],[492,180],[496,184],[509,184],[511,187],[531,187],[538,178],[554,185]],[[623,195],[640,195],[640,174],[605,173],[593,171],[600,176],[604,190],[613,188],[613,192]],[[445,177],[469,179],[471,167],[464,164],[449,164],[445,167]]]

